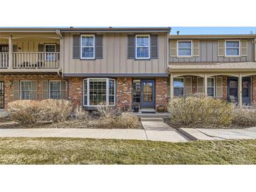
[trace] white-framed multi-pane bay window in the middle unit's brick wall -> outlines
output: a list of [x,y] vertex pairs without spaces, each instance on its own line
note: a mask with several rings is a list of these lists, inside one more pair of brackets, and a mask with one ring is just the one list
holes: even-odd
[[113,106],[116,103],[116,81],[111,78],[86,78],[83,80],[84,106]]

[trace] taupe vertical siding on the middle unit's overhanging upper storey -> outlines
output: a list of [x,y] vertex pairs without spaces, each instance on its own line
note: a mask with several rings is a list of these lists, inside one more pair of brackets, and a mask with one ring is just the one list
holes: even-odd
[[152,60],[127,59],[127,34],[103,34],[102,60],[74,60],[73,34],[64,34],[65,74],[167,74],[168,34],[159,34],[159,58]]

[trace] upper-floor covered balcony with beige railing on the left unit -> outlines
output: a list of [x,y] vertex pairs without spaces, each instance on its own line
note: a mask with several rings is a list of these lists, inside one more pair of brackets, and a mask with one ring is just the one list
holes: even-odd
[[0,72],[58,71],[62,36],[57,32],[0,32]]

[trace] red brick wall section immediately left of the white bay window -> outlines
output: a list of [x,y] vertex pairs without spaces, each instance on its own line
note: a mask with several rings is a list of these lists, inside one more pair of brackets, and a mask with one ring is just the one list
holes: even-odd
[[69,101],[73,107],[83,105],[83,78],[68,78]]

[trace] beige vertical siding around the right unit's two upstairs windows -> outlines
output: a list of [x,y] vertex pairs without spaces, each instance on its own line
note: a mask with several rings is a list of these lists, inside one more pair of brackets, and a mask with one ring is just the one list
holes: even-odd
[[[218,41],[217,40],[200,40],[199,57],[170,57],[169,62],[252,62],[253,61],[253,43],[252,39],[247,39],[247,56],[242,57],[224,57],[218,56]],[[172,40],[173,41],[173,40]],[[169,40],[170,43],[170,40]],[[170,48],[170,46],[169,46]],[[170,50],[168,50],[170,52]]]

